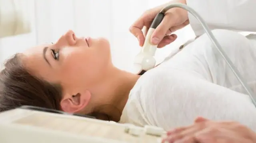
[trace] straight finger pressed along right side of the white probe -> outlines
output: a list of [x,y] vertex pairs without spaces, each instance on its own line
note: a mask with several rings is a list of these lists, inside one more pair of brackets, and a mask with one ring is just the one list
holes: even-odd
[[164,16],[164,19],[158,25],[158,27],[156,27],[156,30],[152,34],[152,37],[151,37],[152,44],[158,45],[160,41],[162,41],[166,33],[168,33],[168,30],[175,24],[176,21],[174,17],[175,16],[172,13],[168,13]]

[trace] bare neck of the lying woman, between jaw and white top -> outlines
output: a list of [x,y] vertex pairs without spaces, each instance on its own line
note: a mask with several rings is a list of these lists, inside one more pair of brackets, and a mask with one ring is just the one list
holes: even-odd
[[119,121],[130,90],[132,90],[139,77],[140,75],[122,71],[115,67],[109,70],[104,75],[103,82],[94,91],[95,95],[102,97],[102,100],[98,101],[99,108],[95,109],[98,111],[94,112],[107,114],[112,121]]

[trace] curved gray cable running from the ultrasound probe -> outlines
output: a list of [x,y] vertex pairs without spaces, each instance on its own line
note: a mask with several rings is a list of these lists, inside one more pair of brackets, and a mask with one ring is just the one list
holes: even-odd
[[248,87],[246,82],[244,82],[244,79],[240,75],[239,71],[236,69],[236,67],[233,65],[232,61],[230,61],[230,59],[228,58],[226,53],[223,51],[222,47],[220,46],[220,44],[218,43],[218,41],[216,40],[216,38],[212,34],[212,31],[210,30],[210,28],[208,27],[206,22],[203,20],[203,18],[201,16],[199,16],[199,14],[195,10],[193,10],[192,8],[187,6],[186,4],[177,3],[177,4],[170,4],[170,5],[166,6],[165,8],[163,8],[161,10],[160,13],[165,14],[167,10],[169,10],[171,8],[176,8],[176,7],[182,8],[182,9],[190,12],[190,14],[192,14],[201,23],[202,27],[204,28],[204,31],[206,32],[208,37],[211,39],[211,41],[215,45],[215,47],[218,49],[218,51],[220,52],[220,55],[222,55],[223,59],[228,64],[231,71],[235,74],[236,78],[239,80],[239,82],[242,84],[242,86],[244,87],[246,92],[249,94],[254,106],[256,106],[256,102],[255,102],[256,96],[253,94],[252,90]]

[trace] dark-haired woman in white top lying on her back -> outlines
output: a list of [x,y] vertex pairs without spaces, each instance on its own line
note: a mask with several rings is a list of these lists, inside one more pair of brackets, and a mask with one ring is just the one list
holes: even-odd
[[[213,33],[256,92],[256,41],[233,31]],[[1,111],[40,106],[165,130],[202,116],[256,131],[256,108],[207,35],[141,76],[112,65],[106,39],[79,38],[73,31],[14,55],[5,66]]]

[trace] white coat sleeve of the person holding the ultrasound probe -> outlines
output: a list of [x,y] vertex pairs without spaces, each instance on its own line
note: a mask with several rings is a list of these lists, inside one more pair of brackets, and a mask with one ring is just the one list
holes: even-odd
[[[186,0],[206,21],[210,29],[256,32],[256,0]],[[188,19],[196,35],[204,29],[198,20],[188,14]]]

